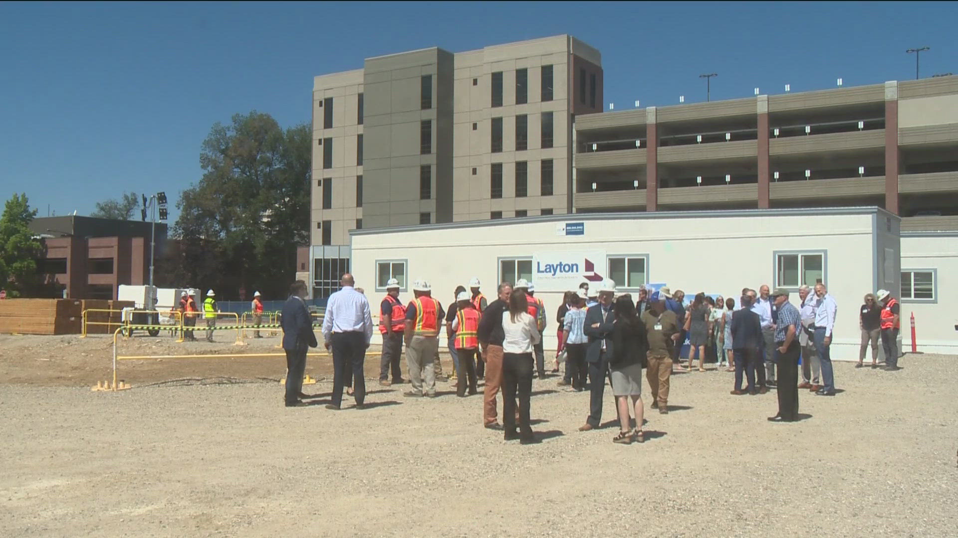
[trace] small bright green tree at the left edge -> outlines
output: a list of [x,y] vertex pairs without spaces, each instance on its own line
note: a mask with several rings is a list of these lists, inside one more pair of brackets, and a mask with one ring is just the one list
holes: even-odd
[[43,256],[43,243],[30,231],[36,210],[27,195],[13,194],[0,216],[0,287],[11,297],[32,289],[39,281],[36,260]]

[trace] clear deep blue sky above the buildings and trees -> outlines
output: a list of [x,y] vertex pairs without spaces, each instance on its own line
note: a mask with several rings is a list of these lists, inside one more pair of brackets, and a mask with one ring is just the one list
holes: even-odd
[[[439,46],[573,34],[602,52],[605,108],[958,73],[947,2],[0,4],[0,196],[46,215],[122,191],[171,201],[213,123],[306,123],[315,75]],[[175,218],[176,212],[173,211]]]

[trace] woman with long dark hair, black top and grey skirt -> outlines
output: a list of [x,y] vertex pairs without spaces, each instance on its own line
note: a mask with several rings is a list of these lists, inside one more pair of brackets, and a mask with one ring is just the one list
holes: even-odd
[[[643,442],[642,422],[645,420],[642,403],[642,368],[646,366],[646,351],[649,342],[646,327],[639,321],[635,303],[628,294],[615,302],[615,326],[612,329],[612,357],[609,359],[612,393],[619,412],[619,435],[612,442],[629,444],[633,440]],[[628,398],[632,398],[635,410],[635,430],[630,428]]]

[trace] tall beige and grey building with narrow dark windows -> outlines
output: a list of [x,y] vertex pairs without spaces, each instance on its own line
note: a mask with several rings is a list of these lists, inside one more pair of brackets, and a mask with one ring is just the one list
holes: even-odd
[[559,35],[316,77],[314,294],[349,270],[350,230],[571,213],[573,117],[602,110],[601,65]]

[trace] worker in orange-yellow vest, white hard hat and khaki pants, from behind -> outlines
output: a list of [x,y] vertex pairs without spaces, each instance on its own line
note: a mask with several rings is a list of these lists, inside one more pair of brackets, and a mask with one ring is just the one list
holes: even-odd
[[432,298],[429,282],[416,280],[413,283],[413,295],[416,298],[406,306],[406,324],[403,327],[406,363],[413,389],[403,395],[435,397],[434,363],[439,352],[439,325],[445,317],[445,311],[443,305]]

